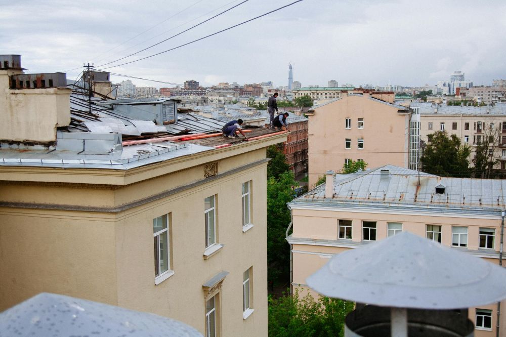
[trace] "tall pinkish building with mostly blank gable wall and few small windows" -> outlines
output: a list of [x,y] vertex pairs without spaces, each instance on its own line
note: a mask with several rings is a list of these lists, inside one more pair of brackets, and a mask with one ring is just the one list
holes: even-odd
[[309,118],[309,186],[329,169],[340,172],[349,160],[368,167],[407,167],[410,109],[394,104],[394,93],[343,92],[312,107]]

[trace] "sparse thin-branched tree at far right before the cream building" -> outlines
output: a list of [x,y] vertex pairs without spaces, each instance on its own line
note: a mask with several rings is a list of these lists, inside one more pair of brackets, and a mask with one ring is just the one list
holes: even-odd
[[488,128],[483,128],[483,135],[480,141],[477,141],[478,146],[473,158],[475,178],[495,178],[494,166],[500,162],[499,142],[501,136],[500,127],[494,128],[493,125],[490,125]]

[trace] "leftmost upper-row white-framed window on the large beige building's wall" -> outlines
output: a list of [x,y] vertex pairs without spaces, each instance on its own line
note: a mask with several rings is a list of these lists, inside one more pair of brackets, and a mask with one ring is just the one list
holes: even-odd
[[153,219],[155,284],[159,284],[172,275],[170,233],[170,220],[168,214]]

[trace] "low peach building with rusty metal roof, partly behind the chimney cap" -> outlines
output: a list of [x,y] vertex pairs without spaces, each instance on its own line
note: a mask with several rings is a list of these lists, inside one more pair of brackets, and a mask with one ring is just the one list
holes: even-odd
[[[293,219],[293,232],[287,237],[291,285],[308,289],[307,277],[333,255],[402,231],[497,264],[505,188],[506,180],[443,178],[423,172],[418,178],[417,171],[394,165],[328,174],[325,184],[288,204]],[[475,336],[496,335],[495,305],[462,309],[476,325]],[[502,312],[499,323],[505,335]]]

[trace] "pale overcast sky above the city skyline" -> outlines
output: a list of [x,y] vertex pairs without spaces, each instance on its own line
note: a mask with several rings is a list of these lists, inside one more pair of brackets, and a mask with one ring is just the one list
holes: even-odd
[[[114,61],[244,0],[0,0],[0,53],[21,54],[28,72]],[[294,0],[249,0],[197,28],[129,57],[136,60],[254,18]],[[288,63],[303,86],[419,86],[454,70],[475,85],[506,78],[506,1],[304,0],[194,44],[111,72],[203,85],[272,80]],[[104,67],[102,67],[104,68]],[[67,71],[75,78],[80,70]],[[113,76],[114,81],[121,81]],[[138,86],[164,86],[135,79]]]

